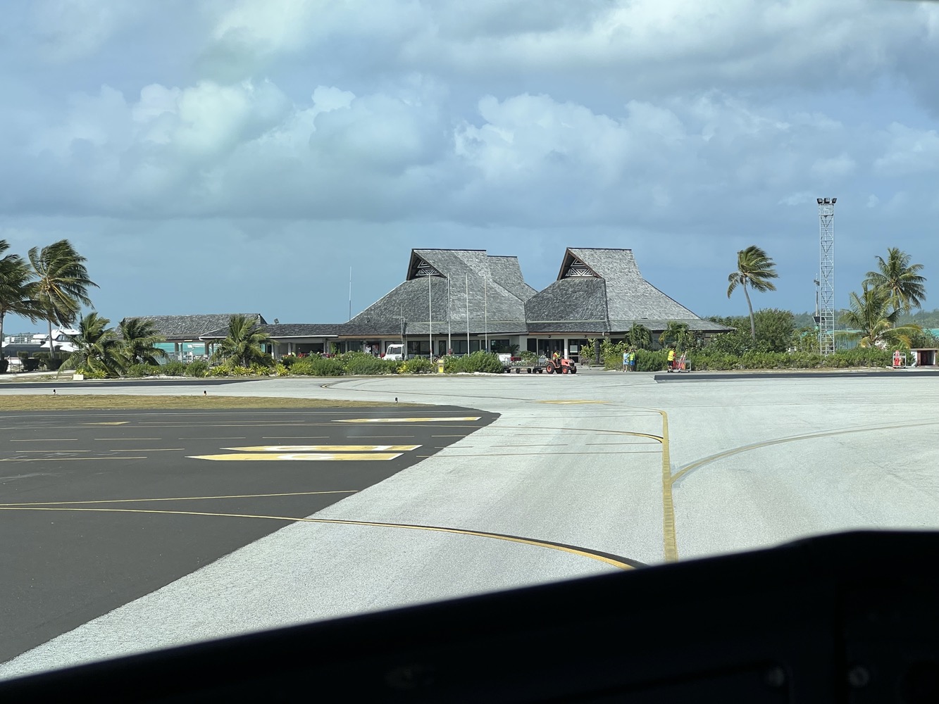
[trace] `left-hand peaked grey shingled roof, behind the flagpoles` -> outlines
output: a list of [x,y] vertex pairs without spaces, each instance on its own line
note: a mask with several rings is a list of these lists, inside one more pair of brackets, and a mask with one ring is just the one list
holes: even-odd
[[[420,274],[423,265],[438,274]],[[412,250],[408,281],[352,318],[340,334],[399,335],[402,319],[406,335],[426,335],[430,324],[434,334],[466,333],[468,304],[471,334],[524,333],[525,300],[533,295],[517,257],[489,256],[484,250]]]

